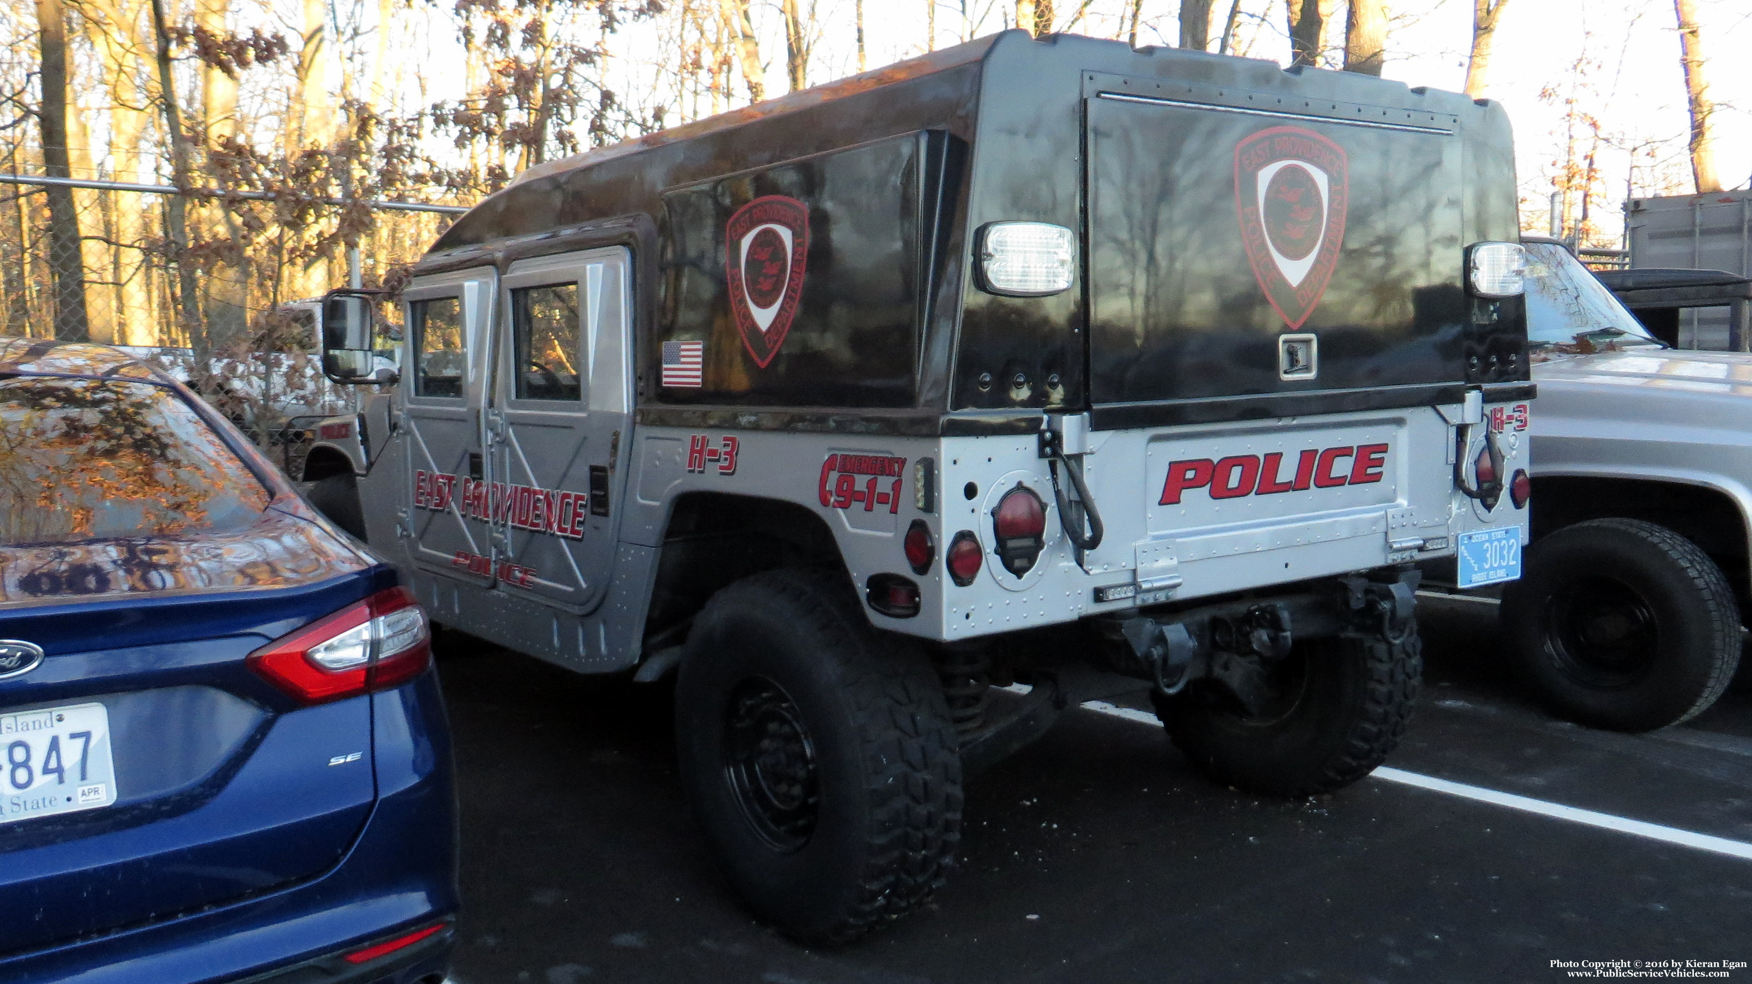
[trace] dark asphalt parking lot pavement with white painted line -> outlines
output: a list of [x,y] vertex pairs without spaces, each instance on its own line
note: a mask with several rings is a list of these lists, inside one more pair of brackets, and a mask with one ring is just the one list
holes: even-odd
[[[1515,685],[1494,606],[1426,601],[1423,629],[1391,777],[1253,797],[1125,707],[1070,711],[969,784],[962,867],[936,903],[836,951],[760,926],[713,870],[666,686],[445,632],[454,979],[1537,982],[1584,961],[1752,959],[1752,693],[1684,727],[1598,732]],[[1752,982],[1743,963],[1726,973]]]

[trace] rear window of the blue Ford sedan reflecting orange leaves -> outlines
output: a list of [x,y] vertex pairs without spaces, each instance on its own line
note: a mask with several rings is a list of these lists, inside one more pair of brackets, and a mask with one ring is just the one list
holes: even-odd
[[0,378],[0,545],[237,529],[270,497],[175,390]]

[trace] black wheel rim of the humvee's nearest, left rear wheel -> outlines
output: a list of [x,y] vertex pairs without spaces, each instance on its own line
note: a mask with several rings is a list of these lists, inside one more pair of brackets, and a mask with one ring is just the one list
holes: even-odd
[[815,742],[785,690],[766,678],[736,685],[725,707],[724,774],[748,825],[776,851],[815,833]]

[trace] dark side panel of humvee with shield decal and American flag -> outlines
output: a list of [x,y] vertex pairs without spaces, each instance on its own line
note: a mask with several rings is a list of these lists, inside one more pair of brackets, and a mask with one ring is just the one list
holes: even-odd
[[661,399],[911,406],[925,144],[892,137],[664,193]]

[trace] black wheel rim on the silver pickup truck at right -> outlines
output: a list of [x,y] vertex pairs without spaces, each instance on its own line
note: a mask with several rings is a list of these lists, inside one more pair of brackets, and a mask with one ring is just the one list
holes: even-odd
[[1587,686],[1631,686],[1659,655],[1649,601],[1615,578],[1582,578],[1554,592],[1545,627],[1558,669]]

